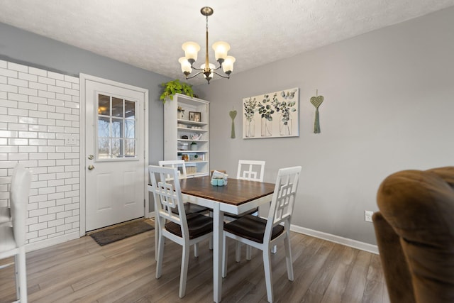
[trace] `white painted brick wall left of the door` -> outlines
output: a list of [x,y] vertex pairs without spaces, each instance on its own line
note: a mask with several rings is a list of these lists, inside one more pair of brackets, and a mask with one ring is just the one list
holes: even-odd
[[0,60],[0,205],[11,174],[32,174],[27,241],[79,233],[79,78]]

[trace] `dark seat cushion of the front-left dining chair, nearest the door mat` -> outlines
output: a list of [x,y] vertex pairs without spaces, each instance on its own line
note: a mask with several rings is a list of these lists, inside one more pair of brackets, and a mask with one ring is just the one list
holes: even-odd
[[[203,214],[188,214],[186,216],[189,228],[189,238],[197,238],[213,231],[213,218]],[[174,235],[182,237],[182,228],[173,222],[167,222],[165,229]]]

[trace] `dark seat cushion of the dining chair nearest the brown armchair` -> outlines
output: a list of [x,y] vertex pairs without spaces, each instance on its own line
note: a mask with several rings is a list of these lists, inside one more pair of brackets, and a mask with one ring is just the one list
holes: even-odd
[[[250,214],[241,217],[238,220],[231,221],[224,225],[224,231],[233,233],[237,236],[247,238],[257,243],[263,243],[263,236],[265,235],[265,227],[267,220],[262,219],[258,216],[252,216]],[[277,225],[272,228],[271,239],[276,238],[284,231],[284,226]]]

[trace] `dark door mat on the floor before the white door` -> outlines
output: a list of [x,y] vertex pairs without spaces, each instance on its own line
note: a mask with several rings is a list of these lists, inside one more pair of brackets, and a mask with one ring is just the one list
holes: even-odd
[[100,246],[104,246],[153,229],[155,229],[153,226],[144,221],[133,221],[121,226],[104,229],[103,231],[96,231],[89,236],[91,236]]

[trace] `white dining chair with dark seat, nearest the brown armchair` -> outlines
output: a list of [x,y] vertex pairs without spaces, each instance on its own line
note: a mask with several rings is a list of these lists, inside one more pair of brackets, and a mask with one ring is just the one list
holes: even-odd
[[222,276],[227,275],[226,238],[233,238],[262,250],[268,302],[273,301],[270,250],[278,241],[284,241],[287,277],[290,281],[294,278],[289,236],[300,174],[301,166],[282,168],[277,172],[275,191],[267,219],[247,215],[224,225]]

